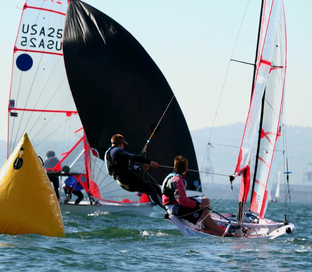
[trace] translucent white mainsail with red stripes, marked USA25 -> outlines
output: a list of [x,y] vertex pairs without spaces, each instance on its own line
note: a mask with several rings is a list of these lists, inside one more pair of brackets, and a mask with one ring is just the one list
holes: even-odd
[[[8,116],[8,155],[25,132],[37,154],[56,154],[82,127],[62,52],[67,1],[28,0],[14,47]],[[82,131],[80,131],[80,137]],[[79,136],[75,136],[79,137]],[[79,137],[79,138],[80,138]]]

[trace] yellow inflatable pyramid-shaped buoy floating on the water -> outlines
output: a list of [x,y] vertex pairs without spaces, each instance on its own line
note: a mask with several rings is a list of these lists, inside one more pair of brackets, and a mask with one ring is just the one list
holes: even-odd
[[27,133],[0,170],[0,233],[65,237],[54,189]]

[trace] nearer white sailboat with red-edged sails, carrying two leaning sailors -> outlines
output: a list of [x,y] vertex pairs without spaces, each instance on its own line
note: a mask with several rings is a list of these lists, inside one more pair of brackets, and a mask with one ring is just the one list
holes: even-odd
[[[238,213],[210,214],[215,222],[225,227],[225,233],[234,232],[235,237],[274,239],[295,231],[295,224],[287,221],[284,212],[284,219],[280,222],[265,218],[274,174],[275,150],[282,133],[285,70],[286,27],[283,1],[262,1],[250,107],[236,169],[230,177],[231,183],[241,177]],[[251,169],[253,140],[257,131],[256,161],[254,169]],[[251,173],[254,173],[253,177]],[[289,172],[286,174],[288,182]],[[248,193],[251,194],[251,200],[247,206]],[[201,221],[194,225],[173,215],[169,215],[167,220],[184,235],[214,236],[203,232]]]

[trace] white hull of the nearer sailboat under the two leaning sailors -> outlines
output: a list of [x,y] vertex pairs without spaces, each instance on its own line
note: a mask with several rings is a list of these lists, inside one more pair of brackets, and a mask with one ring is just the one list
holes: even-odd
[[[224,219],[222,216],[217,214],[211,214],[212,219],[217,223],[222,223],[223,225],[228,226],[227,229],[231,226],[236,226],[237,221],[232,221],[231,214],[222,214],[222,216],[229,218],[229,220]],[[246,216],[245,216],[246,217]],[[249,220],[250,217],[246,217],[244,219]],[[166,220],[170,221],[172,224],[178,227],[180,231],[185,236],[202,236],[202,237],[217,237],[215,235],[204,233],[204,224],[203,222],[197,223],[194,225],[187,220],[179,219],[174,215],[170,215]],[[259,220],[257,222],[252,223],[242,223],[241,228],[236,230],[235,238],[249,238],[249,239],[274,239],[283,234],[292,234],[295,231],[294,223],[286,223],[283,222],[277,223],[268,219]],[[227,231],[227,230],[226,230]]]

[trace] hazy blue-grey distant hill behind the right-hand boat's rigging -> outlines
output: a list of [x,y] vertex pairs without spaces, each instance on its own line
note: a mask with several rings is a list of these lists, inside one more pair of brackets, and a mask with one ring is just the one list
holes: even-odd
[[[243,123],[215,127],[213,128],[212,134],[211,128],[191,131],[199,169],[201,169],[203,164],[202,171],[226,175],[233,174],[236,167],[243,131]],[[211,139],[209,142],[212,146],[209,145],[207,148],[210,134]],[[290,183],[301,185],[303,184],[303,173],[307,171],[308,164],[312,162],[312,128],[287,126],[286,135],[288,169],[292,172],[290,175]],[[206,149],[207,154],[205,156]],[[282,173],[284,172],[283,150],[285,150],[286,154],[286,144],[283,144],[282,139],[278,150],[280,151],[278,152],[279,157],[276,163],[275,172],[280,170]],[[256,151],[254,156],[256,156]],[[228,181],[228,177],[219,175],[202,175],[203,183],[224,184],[224,181]],[[284,183],[282,178],[281,183]],[[311,181],[305,180],[305,184],[311,185]]]

